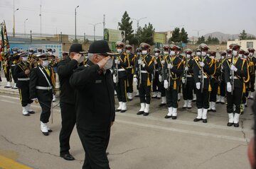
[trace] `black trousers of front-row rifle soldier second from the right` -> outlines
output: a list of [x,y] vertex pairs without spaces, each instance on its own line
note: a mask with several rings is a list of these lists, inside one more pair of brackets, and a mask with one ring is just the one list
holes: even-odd
[[208,88],[204,88],[203,93],[201,93],[201,88],[199,90],[196,88],[196,107],[198,107],[198,109],[209,108],[209,95],[210,92],[208,91]]

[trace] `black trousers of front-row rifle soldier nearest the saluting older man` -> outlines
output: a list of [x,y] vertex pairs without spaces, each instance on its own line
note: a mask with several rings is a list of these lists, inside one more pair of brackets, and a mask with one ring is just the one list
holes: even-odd
[[117,83],[117,98],[119,102],[127,102],[127,76],[124,76],[122,78],[118,78]]

